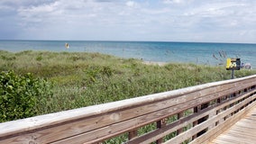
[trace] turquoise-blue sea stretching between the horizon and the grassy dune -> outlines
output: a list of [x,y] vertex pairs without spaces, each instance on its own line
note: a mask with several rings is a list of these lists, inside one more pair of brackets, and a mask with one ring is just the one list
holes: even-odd
[[[65,48],[65,43],[70,45]],[[13,52],[49,50],[99,52],[120,58],[145,61],[185,62],[216,66],[226,58],[241,58],[242,63],[256,67],[256,44],[158,42],[158,41],[87,41],[87,40],[0,40],[0,49]],[[220,56],[220,53],[222,56]],[[215,58],[214,58],[215,56]],[[216,59],[218,58],[218,59]]]

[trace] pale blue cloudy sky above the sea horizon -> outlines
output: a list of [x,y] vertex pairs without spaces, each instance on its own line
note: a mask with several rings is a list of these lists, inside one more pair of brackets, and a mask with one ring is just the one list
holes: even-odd
[[1,0],[0,40],[256,43],[256,1]]

